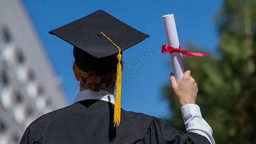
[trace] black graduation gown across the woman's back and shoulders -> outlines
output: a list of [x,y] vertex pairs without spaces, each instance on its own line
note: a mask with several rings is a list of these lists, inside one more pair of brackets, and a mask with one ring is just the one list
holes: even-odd
[[45,114],[25,130],[20,144],[210,144],[206,137],[173,129],[165,120],[121,109],[113,127],[113,104],[83,100]]

